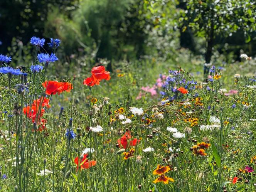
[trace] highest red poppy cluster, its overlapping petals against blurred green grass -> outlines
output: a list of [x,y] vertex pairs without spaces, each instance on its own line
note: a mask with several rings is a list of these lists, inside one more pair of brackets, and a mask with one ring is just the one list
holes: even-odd
[[108,71],[105,71],[104,66],[93,67],[93,69],[91,70],[91,74],[91,77],[84,79],[84,85],[92,87],[94,85],[99,85],[102,79],[108,81],[111,78],[110,73]]

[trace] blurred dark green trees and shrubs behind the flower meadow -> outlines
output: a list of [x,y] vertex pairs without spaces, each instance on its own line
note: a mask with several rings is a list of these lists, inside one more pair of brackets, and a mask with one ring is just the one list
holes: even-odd
[[[256,51],[256,5],[249,0],[8,0],[0,2],[0,53],[27,65],[32,36],[59,38],[62,63],[79,58],[175,59],[179,50],[227,64]],[[108,66],[111,70],[111,65]]]

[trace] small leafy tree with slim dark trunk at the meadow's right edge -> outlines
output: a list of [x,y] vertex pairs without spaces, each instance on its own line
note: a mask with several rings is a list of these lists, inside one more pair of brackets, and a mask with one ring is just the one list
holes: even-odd
[[[243,31],[246,42],[256,33],[256,3],[250,0],[187,0],[180,21],[184,31],[190,27],[198,37],[205,38],[205,62],[211,62],[216,37],[228,37]],[[205,66],[204,74],[209,67]]]

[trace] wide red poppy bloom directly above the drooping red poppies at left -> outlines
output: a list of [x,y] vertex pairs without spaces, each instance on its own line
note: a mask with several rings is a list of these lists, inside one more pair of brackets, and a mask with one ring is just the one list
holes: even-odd
[[60,94],[63,91],[70,92],[73,89],[72,84],[68,82],[45,81],[42,85],[46,88],[45,93],[48,95]]

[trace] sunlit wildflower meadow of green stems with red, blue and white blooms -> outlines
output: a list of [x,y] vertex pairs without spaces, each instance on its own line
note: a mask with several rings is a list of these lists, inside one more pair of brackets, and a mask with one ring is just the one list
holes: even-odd
[[[256,191],[255,59],[0,68],[1,191]],[[248,76],[248,77],[246,77]],[[57,81],[56,81],[57,80]]]

